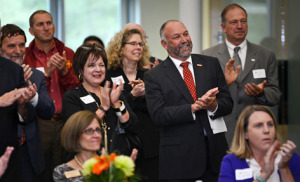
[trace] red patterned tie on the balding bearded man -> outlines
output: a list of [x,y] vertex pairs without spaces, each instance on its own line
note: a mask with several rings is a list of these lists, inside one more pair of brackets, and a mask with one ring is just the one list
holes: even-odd
[[193,75],[191,73],[191,71],[189,70],[189,62],[185,62],[185,63],[181,63],[180,66],[183,67],[183,79],[184,82],[186,84],[186,86],[188,87],[190,93],[192,94],[192,97],[194,99],[194,101],[197,100],[197,94],[196,94],[196,87],[195,87],[195,82],[193,79]]

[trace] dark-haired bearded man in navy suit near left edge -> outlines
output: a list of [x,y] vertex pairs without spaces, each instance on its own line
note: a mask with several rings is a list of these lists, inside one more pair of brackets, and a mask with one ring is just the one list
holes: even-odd
[[[1,29],[2,55],[22,65],[25,54],[25,32],[16,25],[7,24]],[[44,74],[28,65],[22,65],[24,78],[27,85],[35,84],[37,94],[31,100],[35,106],[36,114],[41,119],[51,119],[54,114],[53,100],[49,97]],[[26,138],[21,144],[22,170],[24,182],[32,182],[37,174],[45,168],[43,151],[41,146],[40,131],[37,118],[27,125],[18,125],[18,137],[21,139],[24,131]]]

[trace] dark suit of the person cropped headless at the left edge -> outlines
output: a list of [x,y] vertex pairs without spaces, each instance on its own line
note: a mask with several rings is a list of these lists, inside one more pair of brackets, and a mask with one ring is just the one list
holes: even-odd
[[[16,88],[26,86],[24,81],[23,68],[15,62],[0,56],[0,95],[10,92]],[[28,124],[35,117],[34,107],[27,103],[25,106],[24,122]],[[17,102],[7,107],[0,107],[0,155],[2,155],[7,146],[13,146],[8,163],[7,170],[2,176],[2,181],[20,181],[20,153],[17,137],[17,124],[20,123],[17,113]]]

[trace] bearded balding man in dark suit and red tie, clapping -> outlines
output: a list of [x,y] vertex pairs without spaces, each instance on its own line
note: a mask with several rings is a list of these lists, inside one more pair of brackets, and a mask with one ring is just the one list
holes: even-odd
[[222,69],[216,58],[191,55],[183,23],[167,21],[160,36],[169,56],[144,76],[148,110],[161,127],[159,178],[218,181],[228,149],[222,116],[233,106]]

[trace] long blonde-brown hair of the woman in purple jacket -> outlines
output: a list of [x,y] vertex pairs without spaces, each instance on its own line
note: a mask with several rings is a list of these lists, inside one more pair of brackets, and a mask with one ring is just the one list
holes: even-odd
[[272,111],[267,108],[266,106],[262,105],[252,105],[247,106],[242,113],[240,114],[238,121],[235,126],[235,132],[233,141],[231,144],[230,151],[228,153],[233,153],[237,157],[241,159],[248,159],[252,157],[252,152],[249,146],[247,139],[245,138],[245,133],[247,132],[248,125],[249,125],[249,118],[255,111],[262,111],[269,114],[273,120],[275,126],[275,139],[281,142],[280,134],[277,130],[277,123],[275,116],[273,115]]

